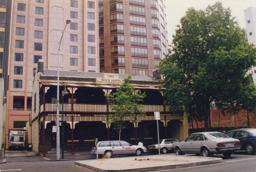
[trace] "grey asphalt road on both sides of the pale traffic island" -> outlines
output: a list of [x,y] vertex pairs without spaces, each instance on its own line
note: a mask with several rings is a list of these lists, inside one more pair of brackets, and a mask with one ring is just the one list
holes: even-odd
[[[222,155],[216,155],[214,157],[221,157]],[[26,172],[47,172],[47,171],[91,171],[84,167],[74,165],[75,161],[55,161],[49,162],[45,161],[40,157],[12,157],[7,159],[7,163],[0,165],[0,172],[3,171],[26,171]],[[179,168],[172,170],[162,170],[162,171],[179,171],[179,172],[216,172],[216,171],[225,171],[225,172],[256,172],[256,155],[246,155],[245,153],[236,153],[231,155],[230,158],[224,159],[222,163],[206,165],[206,166],[197,166],[197,167],[188,167],[188,168]]]

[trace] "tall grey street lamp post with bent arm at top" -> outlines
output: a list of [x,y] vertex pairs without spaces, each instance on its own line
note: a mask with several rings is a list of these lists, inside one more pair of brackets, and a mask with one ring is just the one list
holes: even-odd
[[58,71],[57,71],[57,114],[56,114],[56,128],[57,128],[57,143],[56,143],[56,159],[60,159],[60,45],[62,41],[63,34],[70,20],[66,21],[66,26],[62,32],[59,47],[58,47]]

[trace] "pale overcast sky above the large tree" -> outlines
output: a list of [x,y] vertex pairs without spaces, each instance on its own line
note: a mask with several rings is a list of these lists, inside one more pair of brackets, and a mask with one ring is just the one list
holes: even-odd
[[180,19],[186,14],[189,7],[204,10],[208,5],[213,5],[215,2],[221,2],[226,8],[230,7],[232,16],[244,29],[244,10],[249,6],[256,7],[256,0],[165,0],[169,43],[171,43],[172,35],[175,34],[176,26],[180,24]]

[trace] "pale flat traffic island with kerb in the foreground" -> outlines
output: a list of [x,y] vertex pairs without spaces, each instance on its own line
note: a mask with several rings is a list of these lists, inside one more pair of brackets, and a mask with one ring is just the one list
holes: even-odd
[[95,171],[154,171],[223,162],[222,158],[195,157],[187,155],[147,155],[99,160],[77,161],[75,165]]

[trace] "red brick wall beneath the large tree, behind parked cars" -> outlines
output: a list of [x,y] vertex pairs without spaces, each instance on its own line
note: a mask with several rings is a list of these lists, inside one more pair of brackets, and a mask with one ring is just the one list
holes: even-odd
[[[250,127],[256,128],[256,114],[249,114]],[[191,123],[188,124],[189,129],[193,128]],[[193,122],[194,128],[197,128],[196,122]],[[212,110],[212,127],[243,127],[247,126],[247,112],[241,110],[236,114],[222,113],[219,109]],[[198,128],[204,128],[204,121],[198,122]]]

